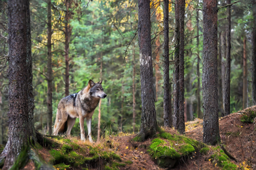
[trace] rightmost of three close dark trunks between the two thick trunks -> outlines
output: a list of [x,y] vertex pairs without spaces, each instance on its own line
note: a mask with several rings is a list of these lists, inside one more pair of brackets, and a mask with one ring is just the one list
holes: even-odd
[[184,14],[185,14],[185,0],[179,0],[179,19],[180,19],[180,65],[179,65],[179,122],[178,131],[185,133],[185,120],[184,120]]

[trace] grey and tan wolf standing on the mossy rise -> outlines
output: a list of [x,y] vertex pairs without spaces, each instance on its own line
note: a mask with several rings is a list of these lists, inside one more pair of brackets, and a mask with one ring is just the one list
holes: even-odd
[[84,119],[86,118],[89,141],[93,142],[91,134],[92,116],[99,104],[99,100],[106,98],[106,96],[103,92],[102,80],[94,83],[90,79],[88,85],[81,91],[62,98],[58,104],[53,135],[64,132],[65,127],[67,127],[66,135],[70,136],[70,131],[76,122],[76,118],[79,118],[81,140],[84,141]]

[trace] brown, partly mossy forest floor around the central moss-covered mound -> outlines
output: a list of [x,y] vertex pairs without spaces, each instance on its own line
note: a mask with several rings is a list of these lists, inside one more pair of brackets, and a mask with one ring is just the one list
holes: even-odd
[[[222,164],[221,157],[215,160],[214,154],[221,154],[220,147],[209,146],[207,152],[202,153],[195,150],[186,156],[181,156],[176,161],[173,170],[256,170],[256,124],[241,122],[248,112],[256,114],[256,106],[244,109],[238,113],[232,113],[219,119],[221,142],[238,162],[229,159],[228,162],[234,166],[227,168]],[[250,120],[251,121],[251,120]],[[171,128],[164,129],[172,135],[178,135]],[[91,144],[81,142],[77,137],[59,139],[61,148],[38,148],[38,153],[46,162],[55,164],[58,170],[165,170],[157,165],[157,159],[148,153],[152,139],[145,142],[134,142],[135,134],[119,133],[108,135],[100,143]],[[202,142],[203,121],[195,119],[186,122],[186,137]],[[177,145],[177,144],[175,144]],[[70,147],[71,146],[71,147]],[[64,149],[63,149],[64,148]],[[73,152],[73,151],[76,152]],[[223,151],[222,151],[223,152]],[[64,156],[66,154],[67,158]],[[70,155],[73,155],[71,158]],[[96,157],[95,157],[96,156]],[[213,156],[213,157],[212,157]],[[97,158],[98,157],[98,158]],[[87,159],[88,158],[88,159]],[[83,160],[83,161],[81,161]],[[227,159],[226,159],[227,160]],[[70,164],[70,162],[73,164]],[[215,163],[217,162],[217,163]],[[63,164],[64,163],[64,164]],[[86,164],[86,166],[84,165]],[[67,166],[66,166],[67,165]],[[24,170],[33,167],[27,165]],[[169,168],[170,169],[170,168]]]

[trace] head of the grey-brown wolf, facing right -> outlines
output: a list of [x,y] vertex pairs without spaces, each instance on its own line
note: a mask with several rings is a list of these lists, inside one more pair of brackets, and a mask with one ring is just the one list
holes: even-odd
[[102,80],[99,82],[93,82],[93,80],[89,80],[88,87],[90,88],[89,94],[94,98],[102,98],[104,99],[107,95],[103,92],[102,88]]

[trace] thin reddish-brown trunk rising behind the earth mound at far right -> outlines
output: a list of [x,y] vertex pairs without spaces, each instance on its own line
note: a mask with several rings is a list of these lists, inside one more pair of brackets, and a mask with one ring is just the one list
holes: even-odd
[[247,56],[246,56],[246,37],[244,36],[244,67],[243,67],[243,109],[247,108]]

